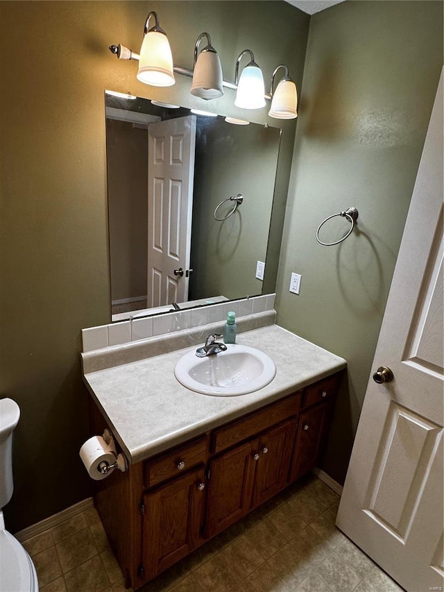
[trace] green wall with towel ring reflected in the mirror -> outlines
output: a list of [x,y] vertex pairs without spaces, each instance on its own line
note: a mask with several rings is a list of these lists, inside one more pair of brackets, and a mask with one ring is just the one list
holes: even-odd
[[[256,262],[266,259],[279,147],[278,128],[197,118],[190,300],[262,294]],[[238,194],[239,208],[214,220],[219,203]],[[224,203],[217,217],[232,208],[232,201]]]

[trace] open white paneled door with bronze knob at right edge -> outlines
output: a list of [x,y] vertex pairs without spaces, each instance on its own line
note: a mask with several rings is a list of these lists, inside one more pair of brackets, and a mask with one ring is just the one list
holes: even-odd
[[443,590],[442,75],[372,373],[379,366],[394,378],[368,382],[336,525],[409,592]]

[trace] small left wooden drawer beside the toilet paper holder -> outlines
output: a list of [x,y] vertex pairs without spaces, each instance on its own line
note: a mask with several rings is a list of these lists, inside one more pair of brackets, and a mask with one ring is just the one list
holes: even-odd
[[144,465],[145,487],[153,487],[171,477],[186,473],[189,468],[207,462],[207,437],[202,437],[170,450],[166,455]]

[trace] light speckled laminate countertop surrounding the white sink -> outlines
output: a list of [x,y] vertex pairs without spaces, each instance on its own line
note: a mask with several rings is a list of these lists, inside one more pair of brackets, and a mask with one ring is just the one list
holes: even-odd
[[190,391],[174,366],[196,346],[86,373],[85,383],[130,463],[263,407],[311,382],[344,369],[345,360],[279,325],[243,332],[237,343],[267,353],[275,378],[254,393],[218,397]]

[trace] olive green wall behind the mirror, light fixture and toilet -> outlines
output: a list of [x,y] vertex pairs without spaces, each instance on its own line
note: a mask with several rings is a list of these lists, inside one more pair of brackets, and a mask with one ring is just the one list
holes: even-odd
[[[208,108],[189,94],[189,78],[154,90],[136,80],[135,62],[108,51],[119,42],[137,51],[150,10],[179,65],[191,67],[208,31],[226,79],[248,47],[266,80],[287,62],[302,83],[309,17],[281,1],[0,2],[0,396],[22,409],[5,510],[12,532],[92,492],[78,457],[88,435],[79,353],[80,329],[110,320],[103,91]],[[233,102],[226,90],[210,105],[245,118]],[[250,118],[268,121],[266,110]],[[295,124],[282,127],[273,214],[284,211],[293,151]]]

